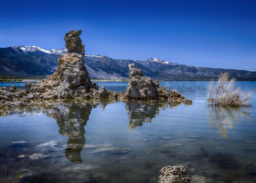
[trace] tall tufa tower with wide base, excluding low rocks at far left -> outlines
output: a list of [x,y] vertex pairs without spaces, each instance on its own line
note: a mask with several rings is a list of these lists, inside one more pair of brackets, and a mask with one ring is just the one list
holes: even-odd
[[81,32],[70,31],[65,35],[68,51],[58,59],[56,72],[36,84],[26,84],[28,93],[31,93],[29,98],[72,99],[81,97],[91,89],[98,89],[97,84],[92,84],[84,67],[84,45],[79,38]]

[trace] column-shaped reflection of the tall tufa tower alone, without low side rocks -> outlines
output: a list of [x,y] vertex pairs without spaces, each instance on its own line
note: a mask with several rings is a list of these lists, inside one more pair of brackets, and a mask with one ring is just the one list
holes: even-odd
[[60,127],[60,134],[68,139],[65,154],[72,163],[83,162],[81,151],[85,145],[84,125],[86,125],[91,111],[90,104],[54,107],[50,111],[51,116],[56,118]]

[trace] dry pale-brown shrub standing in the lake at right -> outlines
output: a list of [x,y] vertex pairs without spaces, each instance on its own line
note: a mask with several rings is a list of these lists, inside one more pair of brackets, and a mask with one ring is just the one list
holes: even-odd
[[222,73],[214,84],[212,79],[208,88],[207,101],[213,106],[251,106],[250,97],[252,97],[251,91],[243,92],[241,88],[235,87],[236,79],[232,78],[228,81],[228,73]]

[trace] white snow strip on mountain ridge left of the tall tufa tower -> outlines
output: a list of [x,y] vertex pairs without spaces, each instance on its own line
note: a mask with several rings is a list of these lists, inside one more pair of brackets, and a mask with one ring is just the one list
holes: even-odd
[[12,47],[13,49],[17,49],[17,50],[22,50],[24,52],[36,52],[36,51],[42,51],[45,52],[47,54],[57,54],[57,55],[62,55],[65,54],[65,52],[67,52],[67,49],[42,49],[38,46],[24,46],[24,45],[19,45],[19,46],[15,46]]

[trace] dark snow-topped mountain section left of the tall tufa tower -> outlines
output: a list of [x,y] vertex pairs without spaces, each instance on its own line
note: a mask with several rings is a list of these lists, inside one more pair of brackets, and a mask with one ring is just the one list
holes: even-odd
[[66,49],[42,49],[37,46],[0,48],[0,75],[49,75],[56,70],[58,58]]

